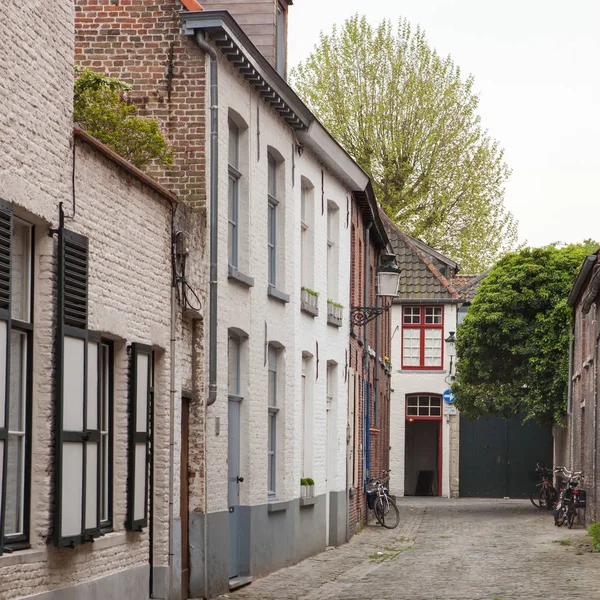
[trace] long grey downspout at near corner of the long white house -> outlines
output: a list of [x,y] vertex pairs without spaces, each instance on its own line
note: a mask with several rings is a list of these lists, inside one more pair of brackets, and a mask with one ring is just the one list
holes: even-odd
[[[208,398],[206,407],[217,400],[217,260],[218,260],[218,216],[219,216],[219,70],[217,53],[206,37],[198,32],[195,35],[198,47],[210,56],[210,289],[208,322]],[[206,419],[205,419],[206,431]],[[206,436],[204,437],[206,444]],[[206,463],[206,451],[204,453]],[[209,598],[208,585],[208,494],[206,485],[206,464],[204,469],[204,597]]]

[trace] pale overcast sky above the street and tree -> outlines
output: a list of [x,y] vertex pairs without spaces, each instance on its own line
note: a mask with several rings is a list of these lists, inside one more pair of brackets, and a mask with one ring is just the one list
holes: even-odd
[[356,12],[421,25],[474,76],[521,242],[600,240],[600,0],[295,0],[290,66]]

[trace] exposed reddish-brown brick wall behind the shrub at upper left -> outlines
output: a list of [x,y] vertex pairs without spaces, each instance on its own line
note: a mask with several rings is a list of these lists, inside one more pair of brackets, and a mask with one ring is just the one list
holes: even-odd
[[131,84],[140,114],[158,119],[174,148],[149,173],[194,208],[206,203],[204,53],[180,33],[178,0],[75,0],[75,63]]

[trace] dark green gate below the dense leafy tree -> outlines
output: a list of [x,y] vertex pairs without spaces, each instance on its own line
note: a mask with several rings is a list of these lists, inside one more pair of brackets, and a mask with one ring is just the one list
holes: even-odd
[[552,465],[552,430],[514,416],[460,418],[459,495],[528,498],[535,463]]

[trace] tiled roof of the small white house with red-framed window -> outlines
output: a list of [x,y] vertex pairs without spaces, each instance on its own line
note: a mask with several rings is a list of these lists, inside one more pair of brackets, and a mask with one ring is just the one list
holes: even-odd
[[[450,282],[440,273],[430,257],[446,258],[419,240],[401,231],[391,219],[380,211],[390,244],[402,269],[399,296],[401,300],[447,300],[457,301],[460,296]],[[431,252],[425,253],[426,250]],[[429,256],[428,256],[429,255]],[[448,261],[446,263],[446,261]],[[450,259],[443,261],[448,266],[456,265]]]

